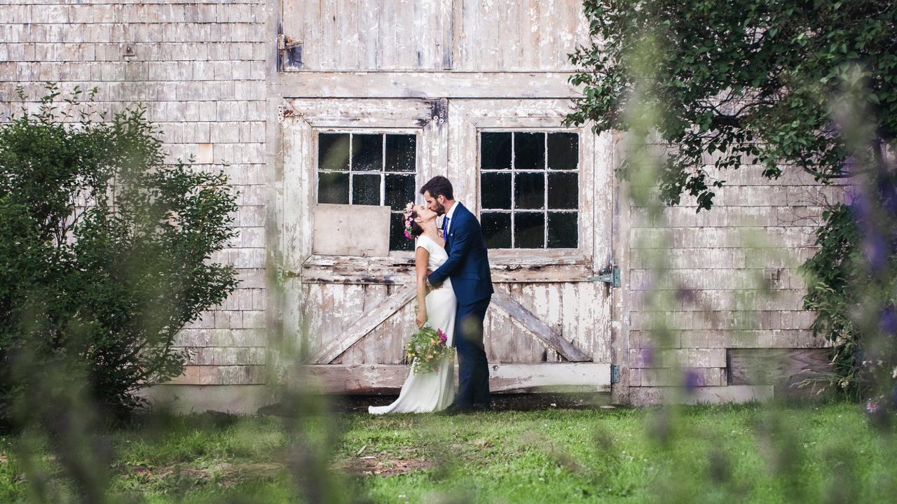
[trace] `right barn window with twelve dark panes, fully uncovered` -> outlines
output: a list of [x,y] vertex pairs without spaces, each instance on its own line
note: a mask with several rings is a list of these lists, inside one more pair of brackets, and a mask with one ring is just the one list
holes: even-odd
[[480,222],[488,248],[578,248],[579,135],[482,132]]

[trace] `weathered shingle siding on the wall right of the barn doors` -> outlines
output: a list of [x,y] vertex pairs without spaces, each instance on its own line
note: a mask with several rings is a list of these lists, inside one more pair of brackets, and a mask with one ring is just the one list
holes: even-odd
[[[712,172],[727,184],[709,212],[696,213],[686,197],[665,209],[665,219],[649,222],[647,209],[631,205],[630,386],[659,387],[631,394],[634,403],[656,402],[663,387],[684,383],[686,371],[707,390],[762,385],[727,383],[720,373],[727,349],[826,345],[810,330],[814,313],[802,309],[806,282],[797,267],[815,254],[823,202],[842,201],[845,187],[820,187],[793,167],[776,180],[760,171]],[[650,269],[658,257],[666,267],[659,277]],[[653,290],[670,292],[669,301],[648,306]],[[666,348],[652,340],[655,326],[669,330]]]

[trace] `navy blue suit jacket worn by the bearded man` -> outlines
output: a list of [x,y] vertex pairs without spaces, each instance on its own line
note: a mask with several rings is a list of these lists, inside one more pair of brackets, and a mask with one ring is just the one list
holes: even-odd
[[457,302],[465,306],[492,296],[492,274],[480,222],[464,205],[456,204],[446,237],[448,259],[428,278],[434,286],[451,278]]

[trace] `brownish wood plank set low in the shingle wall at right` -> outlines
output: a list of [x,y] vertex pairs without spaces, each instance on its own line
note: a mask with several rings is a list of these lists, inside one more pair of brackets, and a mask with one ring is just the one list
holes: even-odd
[[[738,348],[727,352],[730,385],[774,385],[781,395],[813,395],[827,385],[832,364],[825,348]],[[810,380],[806,387],[798,387]],[[812,383],[819,380],[818,384]]]

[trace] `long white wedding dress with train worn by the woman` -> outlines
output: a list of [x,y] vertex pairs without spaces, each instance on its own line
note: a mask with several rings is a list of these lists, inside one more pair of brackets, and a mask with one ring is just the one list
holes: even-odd
[[[445,248],[426,236],[417,239],[417,248],[426,248],[430,253],[427,267],[435,271],[448,259]],[[416,248],[415,248],[416,249]],[[430,291],[426,297],[427,325],[442,329],[451,346],[455,335],[455,291],[451,281],[446,279],[439,289]],[[430,413],[443,410],[455,400],[455,354],[442,361],[436,369],[428,373],[415,373],[414,362],[408,370],[408,378],[402,385],[402,392],[393,404],[368,406],[368,412],[382,413]]]

